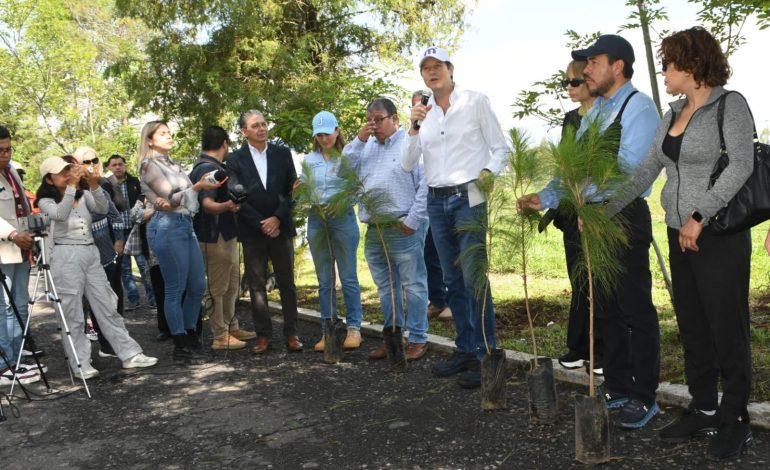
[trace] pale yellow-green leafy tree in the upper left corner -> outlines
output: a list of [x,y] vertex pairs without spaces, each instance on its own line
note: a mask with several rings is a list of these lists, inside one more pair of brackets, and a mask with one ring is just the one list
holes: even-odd
[[142,29],[115,19],[113,8],[109,0],[0,0],[0,122],[22,164],[81,144],[101,154],[136,148],[128,97],[104,71],[137,50]]

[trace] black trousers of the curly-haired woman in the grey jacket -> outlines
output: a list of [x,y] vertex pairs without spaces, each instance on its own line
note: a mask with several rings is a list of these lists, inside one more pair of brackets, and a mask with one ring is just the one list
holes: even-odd
[[674,310],[692,405],[700,410],[717,409],[721,379],[722,421],[740,417],[748,422],[751,232],[715,236],[705,227],[698,247],[697,253],[682,253],[679,231],[668,229]]

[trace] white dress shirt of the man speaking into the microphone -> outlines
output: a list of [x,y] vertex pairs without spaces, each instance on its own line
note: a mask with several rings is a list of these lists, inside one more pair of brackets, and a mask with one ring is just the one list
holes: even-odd
[[438,188],[475,180],[485,168],[494,174],[505,168],[510,147],[486,95],[455,86],[446,114],[433,96],[428,104],[433,108],[420,132],[404,139],[401,165],[406,171],[422,154],[428,186]]

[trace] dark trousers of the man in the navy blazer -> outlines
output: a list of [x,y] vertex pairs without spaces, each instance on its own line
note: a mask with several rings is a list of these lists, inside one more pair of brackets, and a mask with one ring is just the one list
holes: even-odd
[[294,284],[294,239],[271,238],[257,241],[244,241],[243,264],[246,279],[249,282],[251,314],[254,317],[254,329],[260,338],[270,338],[273,323],[267,307],[267,261],[273,262],[273,272],[281,293],[283,310],[283,334],[297,334],[297,287]]

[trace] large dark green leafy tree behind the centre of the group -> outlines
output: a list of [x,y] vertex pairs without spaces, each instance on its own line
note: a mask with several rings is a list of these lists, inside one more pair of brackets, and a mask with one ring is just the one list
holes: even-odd
[[237,112],[257,108],[277,123],[274,135],[301,151],[319,110],[358,128],[365,103],[403,95],[384,77],[404,70],[417,46],[451,47],[467,10],[454,0],[116,5],[152,32],[144,57],[124,58],[110,69],[111,76],[127,78],[138,110],[173,118],[197,134],[212,123],[232,127]]

